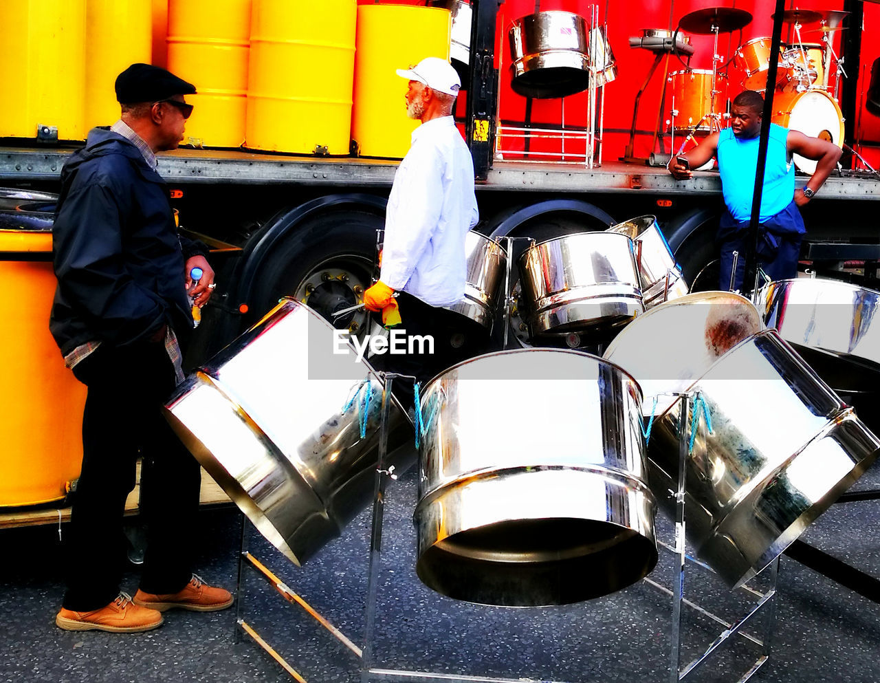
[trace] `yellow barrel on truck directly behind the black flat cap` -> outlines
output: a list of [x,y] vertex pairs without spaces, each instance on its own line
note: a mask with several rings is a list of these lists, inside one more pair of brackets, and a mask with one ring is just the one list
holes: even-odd
[[136,62],[152,57],[152,0],[86,0],[85,127],[119,118],[114,83]]

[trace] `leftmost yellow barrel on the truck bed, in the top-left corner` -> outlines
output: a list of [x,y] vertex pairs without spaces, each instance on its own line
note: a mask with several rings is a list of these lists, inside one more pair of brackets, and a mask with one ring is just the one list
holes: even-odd
[[85,0],[0,2],[0,83],[0,137],[84,140]]

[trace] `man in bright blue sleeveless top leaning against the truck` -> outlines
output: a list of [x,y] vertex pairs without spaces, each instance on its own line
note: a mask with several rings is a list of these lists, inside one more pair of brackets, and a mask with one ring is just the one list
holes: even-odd
[[[740,92],[731,107],[730,128],[712,133],[693,150],[679,155],[687,159],[688,165],[673,158],[669,167],[677,180],[686,180],[691,177],[691,168],[699,168],[713,157],[718,159],[725,206],[717,236],[721,244],[722,290],[730,288],[734,252],[739,258],[733,288],[740,290],[743,286],[763,110],[764,98],[759,92]],[[793,154],[818,162],[816,172],[803,189],[795,189]],[[839,158],[840,148],[833,143],[770,124],[761,192],[758,263],[771,279],[797,276],[801,239],[806,232],[797,207],[810,202]]]

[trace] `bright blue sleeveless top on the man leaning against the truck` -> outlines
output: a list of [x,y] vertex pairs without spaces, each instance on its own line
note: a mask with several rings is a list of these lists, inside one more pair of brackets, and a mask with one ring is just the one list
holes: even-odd
[[[764,190],[761,193],[761,223],[785,209],[795,195],[795,165],[788,161],[787,137],[788,129],[770,124]],[[740,139],[730,128],[722,129],[718,134],[722,195],[730,215],[737,221],[748,221],[752,217],[759,142],[759,137]]]

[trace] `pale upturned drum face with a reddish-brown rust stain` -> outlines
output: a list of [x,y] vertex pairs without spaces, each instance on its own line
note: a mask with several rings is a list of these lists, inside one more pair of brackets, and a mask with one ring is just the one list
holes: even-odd
[[701,291],[634,319],[604,356],[638,380],[645,415],[660,415],[675,401],[664,393],[686,391],[724,353],[762,329],[761,315],[747,298]]

